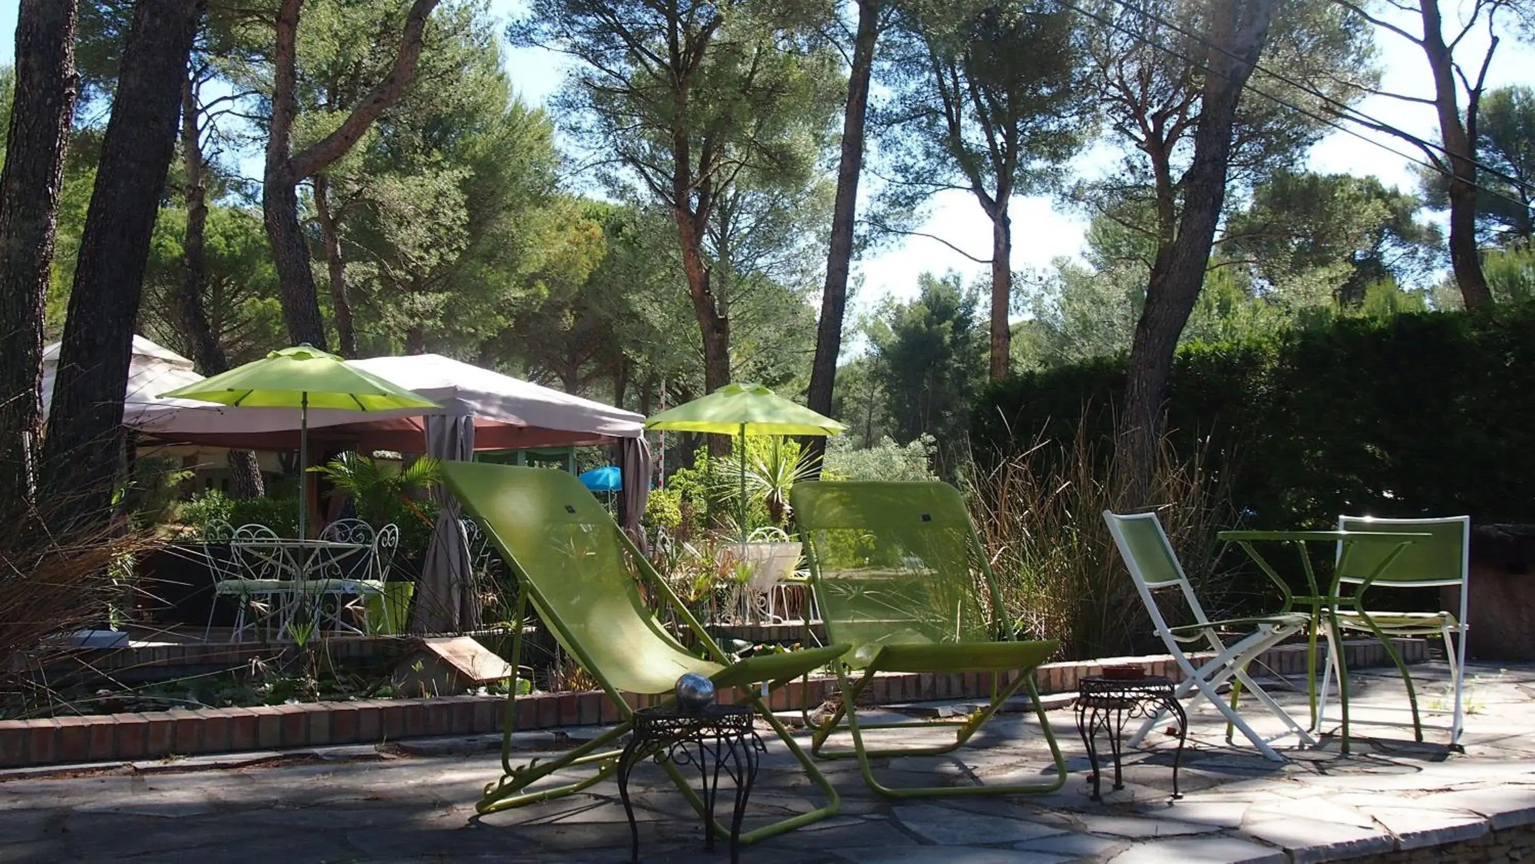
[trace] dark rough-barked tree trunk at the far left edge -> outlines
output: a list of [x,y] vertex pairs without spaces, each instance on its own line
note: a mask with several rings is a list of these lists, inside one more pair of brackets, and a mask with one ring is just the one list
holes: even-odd
[[21,0],[0,173],[0,506],[32,502],[43,431],[43,315],[75,112],[75,0]]

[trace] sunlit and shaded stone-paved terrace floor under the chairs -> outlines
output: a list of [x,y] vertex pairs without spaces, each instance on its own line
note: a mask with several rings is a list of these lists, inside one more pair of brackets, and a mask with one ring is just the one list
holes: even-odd
[[[1414,668],[1426,706],[1448,703],[1443,664]],[[1535,823],[1535,664],[1474,666],[1466,754],[1451,754],[1448,717],[1426,717],[1429,744],[1411,741],[1406,697],[1388,669],[1355,681],[1352,755],[1337,740],[1315,749],[1282,741],[1283,764],[1225,743],[1225,724],[1200,706],[1183,754],[1183,798],[1170,800],[1170,741],[1125,757],[1125,789],[1088,800],[1087,758],[1071,711],[1050,712],[1071,777],[1059,792],[1013,798],[887,801],[867,790],[855,763],[823,763],[843,792],[841,815],[743,850],[746,862],[1056,864],[1064,861],[1335,861],[1408,859],[1401,850],[1455,841],[1506,859]],[[1303,684],[1302,684],[1303,686]],[[1305,691],[1271,688],[1303,720]],[[1256,711],[1260,730],[1277,730]],[[1332,724],[1335,726],[1335,724]],[[580,730],[566,730],[579,737]],[[926,734],[926,732],[923,732]],[[548,741],[530,735],[530,744]],[[1237,741],[1242,741],[1240,735]],[[1440,741],[1434,744],[1432,741]],[[612,783],[591,793],[474,816],[479,790],[499,777],[484,737],[304,754],[209,757],[100,772],[0,773],[0,862],[20,861],[628,861],[628,824]],[[817,804],[781,744],[769,741],[752,793],[760,816]],[[1048,767],[1033,715],[998,720],[955,758],[901,760],[892,783],[999,781]],[[642,766],[640,858],[728,861],[701,849],[697,818],[660,769]],[[721,793],[721,801],[726,795]],[[748,819],[751,823],[751,818]],[[1497,832],[1497,833],[1489,833]],[[1524,855],[1535,855],[1535,849]],[[1414,861],[1417,858],[1412,858]]]

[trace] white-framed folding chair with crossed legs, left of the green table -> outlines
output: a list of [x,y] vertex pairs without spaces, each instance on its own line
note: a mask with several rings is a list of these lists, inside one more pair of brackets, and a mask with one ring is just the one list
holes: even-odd
[[[1213,622],[1205,615],[1203,606],[1199,605],[1199,597],[1194,595],[1194,588],[1188,583],[1188,577],[1183,574],[1183,565],[1177,562],[1177,556],[1173,552],[1173,545],[1167,539],[1167,533],[1162,529],[1162,523],[1157,520],[1154,513],[1137,513],[1131,516],[1119,516],[1111,511],[1104,511],[1104,522],[1108,523],[1108,533],[1114,537],[1114,545],[1119,546],[1119,554],[1125,560],[1125,568],[1130,569],[1130,577],[1136,583],[1136,591],[1141,594],[1141,602],[1145,603],[1147,614],[1151,615],[1151,625],[1156,628],[1156,634],[1162,638],[1167,646],[1168,654],[1177,661],[1179,668],[1183,671],[1183,681],[1177,684],[1174,697],[1182,700],[1191,692],[1199,691],[1210,704],[1216,706],[1225,718],[1246,735],[1248,741],[1257,747],[1263,757],[1283,761],[1283,758],[1269,746],[1269,741],[1286,738],[1289,735],[1297,735],[1302,743],[1314,744],[1312,738],[1299,723],[1296,723],[1289,714],[1285,712],[1279,703],[1269,697],[1263,688],[1246,674],[1246,666],[1257,655],[1263,654],[1273,648],[1280,640],[1302,632],[1311,623],[1311,617],[1303,612],[1280,612],[1276,615],[1257,615],[1245,618],[1228,618]],[[1154,591],[1164,588],[1177,588],[1182,592],[1183,602],[1188,605],[1188,611],[1194,618],[1194,623],[1183,626],[1168,626],[1167,620],[1162,617],[1162,609],[1157,606]],[[1237,638],[1233,643],[1226,643],[1220,629],[1251,631],[1246,635]],[[1203,641],[1210,651],[1216,655],[1207,660],[1202,666],[1194,666],[1188,654],[1183,652],[1183,643],[1200,643]],[[1253,697],[1266,707],[1274,717],[1285,723],[1286,732],[1276,735],[1274,738],[1263,738],[1254,730],[1246,720],[1237,714],[1236,707],[1228,704],[1220,698],[1216,689],[1236,677],[1243,688],[1253,692]],[[1162,712],[1153,714],[1141,726],[1141,729],[1130,738],[1130,746],[1137,747],[1141,741],[1145,740],[1147,734],[1156,727],[1160,721]]]

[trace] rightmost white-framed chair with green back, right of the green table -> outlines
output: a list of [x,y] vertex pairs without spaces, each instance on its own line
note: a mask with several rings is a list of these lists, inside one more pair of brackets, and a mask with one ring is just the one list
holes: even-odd
[[[1423,740],[1423,723],[1418,715],[1418,697],[1412,686],[1401,655],[1391,645],[1392,637],[1437,635],[1444,640],[1444,658],[1449,661],[1451,691],[1454,698],[1451,718],[1451,746],[1460,746],[1464,707],[1464,675],[1466,675],[1466,595],[1467,575],[1471,572],[1471,517],[1449,516],[1441,519],[1375,519],[1372,516],[1339,516],[1339,531],[1403,531],[1409,534],[1432,534],[1432,539],[1417,540],[1400,549],[1395,557],[1380,569],[1382,556],[1391,552],[1388,546],[1357,545],[1346,560],[1343,546],[1339,545],[1337,580],[1342,585],[1357,586],[1355,608],[1339,609],[1339,626],[1345,631],[1371,632],[1386,648],[1401,672],[1401,681],[1408,688],[1408,703],[1412,706],[1412,732],[1418,741]],[[1371,579],[1371,574],[1380,574]],[[1460,614],[1438,612],[1374,612],[1363,608],[1363,594],[1372,588],[1457,588],[1460,592]],[[1455,638],[1451,638],[1451,634]],[[1328,664],[1322,674],[1322,697],[1317,703],[1317,723],[1322,727],[1328,706],[1328,689],[1332,686],[1332,675],[1337,674],[1337,651],[1332,646],[1332,634],[1328,632]],[[1432,711],[1432,709],[1431,709]]]

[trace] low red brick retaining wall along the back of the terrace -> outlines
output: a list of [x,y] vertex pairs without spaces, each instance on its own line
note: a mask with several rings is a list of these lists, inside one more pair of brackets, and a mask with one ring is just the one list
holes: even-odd
[[[1423,640],[1397,640],[1397,646],[1409,663],[1428,658]],[[1351,668],[1389,663],[1385,649],[1372,640],[1351,641],[1346,651]],[[1288,675],[1303,671],[1305,657],[1303,645],[1285,645],[1269,649],[1257,663]],[[1044,694],[1071,692],[1081,677],[1096,675],[1105,664],[1124,663],[1139,663],[1151,675],[1182,678],[1171,657],[1153,655],[1045,663],[1035,672],[1035,681]],[[1262,669],[1254,669],[1254,674],[1262,674]],[[814,707],[835,691],[835,678],[792,681],[774,691],[769,707]],[[870,691],[878,704],[984,698],[990,692],[990,678],[982,674],[890,674],[880,675]],[[659,701],[659,697],[626,694],[626,700],[642,707]],[[517,729],[614,723],[619,718],[617,707],[600,692],[534,694],[517,697],[514,704]],[[502,730],[503,718],[503,697],[470,695],[0,720],[0,769],[487,734]]]

